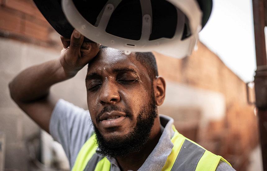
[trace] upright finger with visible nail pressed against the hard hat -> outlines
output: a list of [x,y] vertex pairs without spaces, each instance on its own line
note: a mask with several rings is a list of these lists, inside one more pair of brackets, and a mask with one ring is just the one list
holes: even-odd
[[82,36],[77,30],[73,30],[70,37],[70,54],[77,55],[80,53],[80,48],[83,44],[84,36]]

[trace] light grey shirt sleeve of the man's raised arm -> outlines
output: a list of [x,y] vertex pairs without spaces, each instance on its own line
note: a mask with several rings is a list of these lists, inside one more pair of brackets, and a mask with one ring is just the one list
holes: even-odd
[[79,150],[93,135],[89,111],[58,100],[50,118],[49,132],[62,145],[72,168]]

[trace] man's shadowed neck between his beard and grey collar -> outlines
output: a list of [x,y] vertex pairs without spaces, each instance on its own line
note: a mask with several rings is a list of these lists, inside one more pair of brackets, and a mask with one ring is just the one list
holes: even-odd
[[147,157],[150,155],[150,153],[153,151],[153,149],[159,142],[160,137],[161,137],[161,125],[159,117],[157,117],[152,127],[151,135],[149,136],[149,139],[147,143],[144,145],[143,149],[140,150],[139,152],[130,154],[128,156],[116,158],[116,160],[120,165],[121,170],[123,171],[138,170],[145,162]]

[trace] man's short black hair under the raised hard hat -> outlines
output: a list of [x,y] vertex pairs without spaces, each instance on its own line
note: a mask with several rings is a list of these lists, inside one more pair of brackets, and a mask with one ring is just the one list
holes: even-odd
[[[106,46],[99,46],[99,50],[106,48]],[[152,52],[134,52],[135,58],[147,69],[147,73],[151,80],[158,76],[158,67],[155,56]]]

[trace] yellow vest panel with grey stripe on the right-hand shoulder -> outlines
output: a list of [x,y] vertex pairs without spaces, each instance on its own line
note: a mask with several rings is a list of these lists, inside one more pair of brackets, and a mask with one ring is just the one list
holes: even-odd
[[229,164],[221,156],[207,151],[178,133],[174,125],[173,130],[174,136],[171,142],[174,146],[162,168],[163,171],[215,171],[220,160]]

